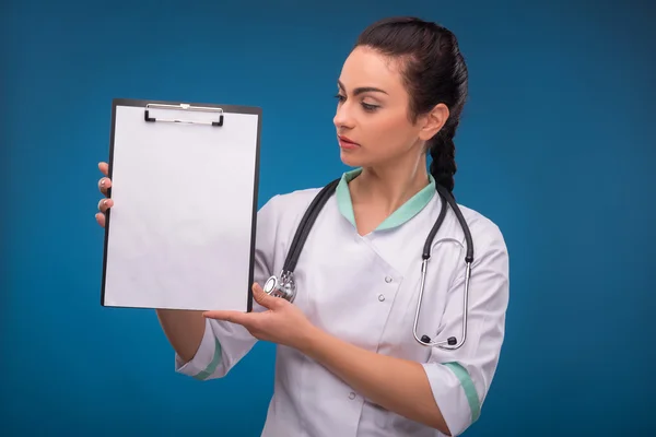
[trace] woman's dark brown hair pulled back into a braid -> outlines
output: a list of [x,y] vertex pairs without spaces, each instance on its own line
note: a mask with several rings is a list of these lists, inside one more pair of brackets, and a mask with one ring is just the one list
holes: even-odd
[[417,17],[378,21],[360,35],[355,47],[371,47],[402,64],[406,90],[410,94],[410,117],[444,103],[449,117],[429,143],[430,172],[447,190],[454,189],[456,146],[454,137],[467,99],[467,66],[456,36],[447,28]]

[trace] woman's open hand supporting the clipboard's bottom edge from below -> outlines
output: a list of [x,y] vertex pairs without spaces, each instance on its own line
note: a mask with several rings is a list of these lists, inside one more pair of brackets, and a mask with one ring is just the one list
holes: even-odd
[[303,311],[281,297],[269,296],[259,284],[253,285],[253,297],[267,310],[262,312],[212,310],[204,311],[203,316],[242,324],[258,340],[303,349],[314,330],[314,326]]

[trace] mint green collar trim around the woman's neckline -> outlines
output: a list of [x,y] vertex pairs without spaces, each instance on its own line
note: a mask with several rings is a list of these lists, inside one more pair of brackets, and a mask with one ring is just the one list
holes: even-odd
[[[355,168],[342,175],[337,186],[336,197],[337,205],[341,214],[355,226],[355,215],[353,214],[353,201],[349,191],[349,182],[362,173],[362,168]],[[435,179],[429,174],[430,182],[421,191],[414,194],[410,200],[403,203],[398,210],[391,213],[376,231],[389,229],[400,226],[410,218],[419,214],[423,208],[429,204],[435,196]]]

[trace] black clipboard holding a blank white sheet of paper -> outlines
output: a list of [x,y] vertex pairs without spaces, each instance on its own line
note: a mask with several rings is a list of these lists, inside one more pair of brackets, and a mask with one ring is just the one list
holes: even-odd
[[101,305],[253,310],[261,108],[116,98]]

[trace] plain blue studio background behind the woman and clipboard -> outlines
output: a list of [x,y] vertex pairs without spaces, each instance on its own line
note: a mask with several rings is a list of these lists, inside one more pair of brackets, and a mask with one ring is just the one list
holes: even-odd
[[396,14],[459,37],[456,194],[511,252],[506,343],[469,435],[654,432],[654,7],[528,3],[3,1],[0,434],[258,435],[271,344],[198,382],[153,311],[99,306],[112,98],[261,106],[261,205],[345,169],[336,80]]

